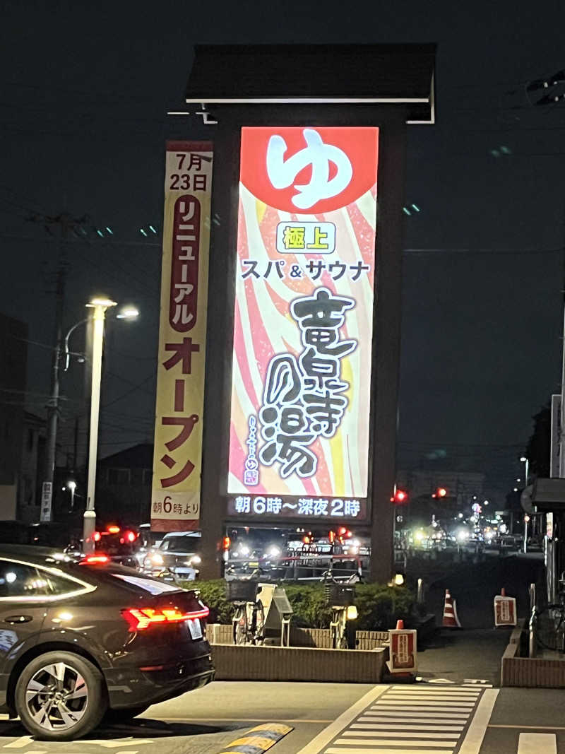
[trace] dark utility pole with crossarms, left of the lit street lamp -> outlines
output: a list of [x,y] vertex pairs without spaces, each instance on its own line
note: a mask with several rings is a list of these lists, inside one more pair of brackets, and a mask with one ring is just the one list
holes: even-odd
[[66,259],[66,241],[69,230],[74,231],[87,217],[73,218],[67,213],[56,216],[35,215],[31,222],[38,222],[44,226],[47,233],[53,235],[51,228],[59,228],[60,245],[59,260],[56,272],[55,287],[55,334],[53,338],[53,359],[51,361],[50,398],[47,403],[47,440],[45,443],[45,465],[43,483],[41,484],[41,521],[51,520],[53,504],[53,477],[56,464],[57,425],[59,421],[60,379],[59,369],[63,351],[63,314],[65,311],[65,285],[69,263]]

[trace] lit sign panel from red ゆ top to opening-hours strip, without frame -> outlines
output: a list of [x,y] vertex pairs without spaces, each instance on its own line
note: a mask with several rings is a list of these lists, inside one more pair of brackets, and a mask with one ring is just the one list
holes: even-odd
[[231,514],[367,517],[378,136],[242,130]]

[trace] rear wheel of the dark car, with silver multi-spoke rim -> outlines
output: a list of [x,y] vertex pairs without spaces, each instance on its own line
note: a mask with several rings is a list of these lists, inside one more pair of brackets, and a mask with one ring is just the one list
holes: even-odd
[[72,652],[46,652],[24,667],[15,706],[39,740],[69,741],[89,733],[107,709],[102,673]]

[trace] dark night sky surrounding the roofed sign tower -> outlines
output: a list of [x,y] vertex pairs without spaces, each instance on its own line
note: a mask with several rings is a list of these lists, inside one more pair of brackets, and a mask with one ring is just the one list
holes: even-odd
[[[531,106],[525,87],[565,68],[565,10],[457,5],[5,3],[0,309],[29,323],[29,409],[41,414],[48,391],[58,249],[28,218],[88,215],[88,237],[67,244],[66,326],[97,292],[142,311],[108,324],[100,453],[152,440],[160,236],[148,226],[162,223],[164,143],[213,139],[166,116],[184,108],[194,43],[437,42],[437,123],[408,131],[406,201],[421,211],[405,223],[399,465],[482,470],[509,489],[560,381],[565,101]],[[66,450],[83,372],[63,375]]]

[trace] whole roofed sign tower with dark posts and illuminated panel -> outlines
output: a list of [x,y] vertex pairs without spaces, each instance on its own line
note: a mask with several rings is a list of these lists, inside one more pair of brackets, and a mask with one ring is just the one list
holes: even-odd
[[406,127],[434,120],[434,65],[434,45],[195,48],[203,577],[227,523],[260,522],[365,530],[390,578]]

